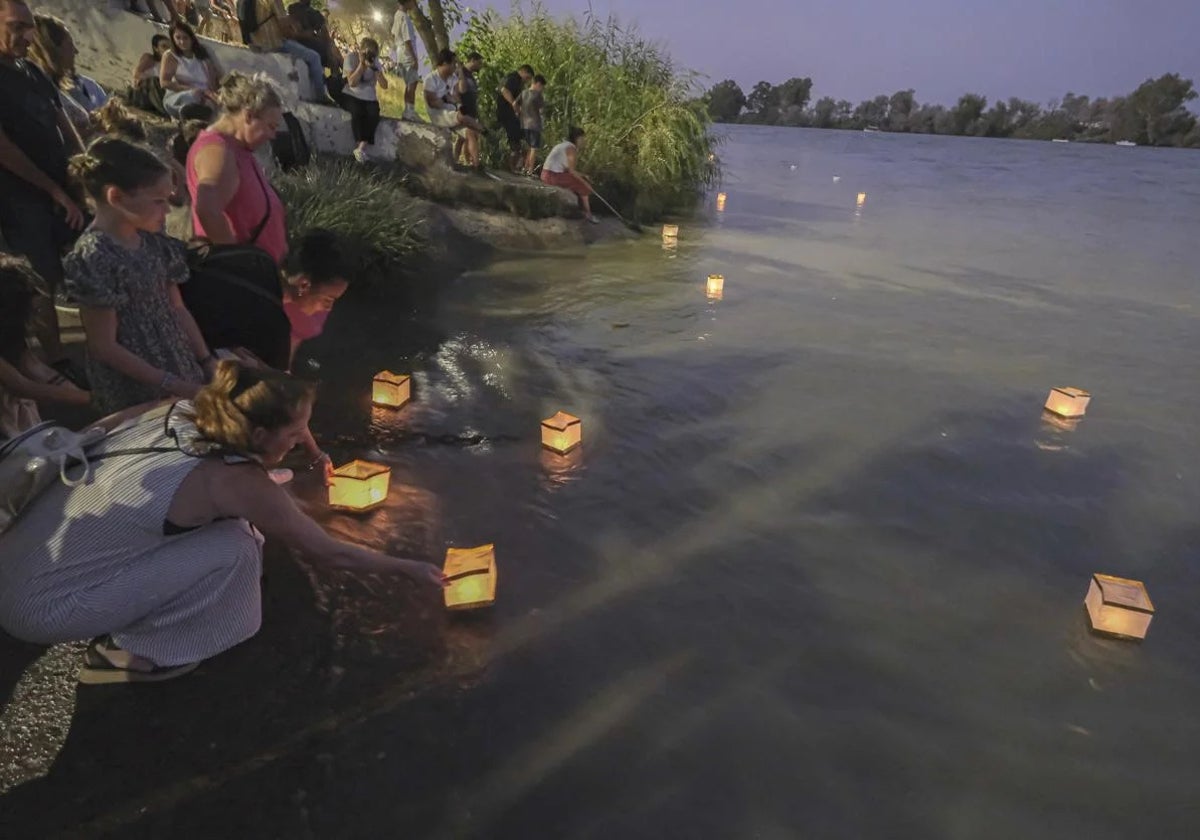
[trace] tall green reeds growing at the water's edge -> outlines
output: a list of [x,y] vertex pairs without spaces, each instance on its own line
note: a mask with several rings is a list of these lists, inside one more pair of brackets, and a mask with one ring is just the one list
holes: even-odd
[[[635,28],[590,13],[554,19],[536,0],[518,1],[508,18],[487,11],[469,19],[458,53],[470,50],[487,62],[479,74],[484,121],[494,121],[504,76],[532,65],[546,77],[542,155],[569,126],[582,127],[580,170],[626,211],[644,218],[686,209],[716,175],[696,77]],[[490,139],[488,163],[499,166],[503,132]]]

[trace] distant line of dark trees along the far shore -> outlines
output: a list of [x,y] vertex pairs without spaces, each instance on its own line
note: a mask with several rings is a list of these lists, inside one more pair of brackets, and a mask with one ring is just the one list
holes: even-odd
[[1200,126],[1187,109],[1196,91],[1192,79],[1176,73],[1147,79],[1128,96],[1092,100],[1067,94],[1045,107],[1013,97],[989,108],[986,97],[965,94],[947,108],[918,103],[913,90],[856,107],[830,96],[810,103],[811,94],[812,79],[806,77],[778,85],[760,82],[749,96],[726,79],[704,94],[704,104],[716,122],[1200,148]]

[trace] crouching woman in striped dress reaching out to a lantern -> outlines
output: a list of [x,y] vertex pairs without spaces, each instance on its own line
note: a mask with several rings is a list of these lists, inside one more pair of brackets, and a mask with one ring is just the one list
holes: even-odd
[[0,628],[43,644],[91,637],[82,683],[154,682],[258,631],[264,535],[334,568],[442,586],[432,565],[329,536],[268,476],[306,439],[312,403],[308,383],[224,361],[193,402],[110,418],[89,456],[112,455],[91,479],[55,482],[0,535]]

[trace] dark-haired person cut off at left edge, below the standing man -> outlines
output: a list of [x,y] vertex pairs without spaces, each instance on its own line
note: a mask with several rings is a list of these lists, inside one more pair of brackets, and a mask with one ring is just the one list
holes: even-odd
[[43,362],[29,346],[34,300],[46,294],[29,260],[0,253],[0,439],[42,421],[38,402],[86,406],[91,394]]

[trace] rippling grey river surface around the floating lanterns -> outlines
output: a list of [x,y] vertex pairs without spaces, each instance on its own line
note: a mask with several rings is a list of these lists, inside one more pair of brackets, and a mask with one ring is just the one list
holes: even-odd
[[[415,516],[499,566],[424,736],[344,733],[398,755],[342,828],[1200,834],[1200,155],[742,127],[721,158],[674,248],[331,319],[318,436],[412,490],[349,533]],[[372,418],[382,367],[415,400]],[[1074,428],[1055,385],[1093,394]],[[1093,572],[1146,582],[1145,643],[1087,631]]]

